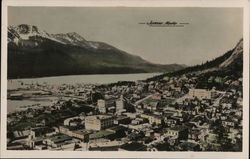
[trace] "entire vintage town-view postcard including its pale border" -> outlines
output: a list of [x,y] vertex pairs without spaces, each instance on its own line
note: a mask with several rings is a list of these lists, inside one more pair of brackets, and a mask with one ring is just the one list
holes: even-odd
[[7,6],[4,151],[243,153],[245,9]]

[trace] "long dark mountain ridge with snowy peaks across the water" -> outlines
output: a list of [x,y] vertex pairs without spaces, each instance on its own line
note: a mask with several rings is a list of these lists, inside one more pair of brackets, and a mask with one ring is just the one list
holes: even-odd
[[49,34],[37,26],[8,27],[8,78],[77,74],[171,72],[183,65],[153,64],[104,42],[71,32]]

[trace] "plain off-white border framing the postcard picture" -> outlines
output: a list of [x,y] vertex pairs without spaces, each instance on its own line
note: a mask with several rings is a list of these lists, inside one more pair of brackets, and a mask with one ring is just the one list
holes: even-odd
[[[3,158],[248,158],[249,141],[249,3],[247,1],[130,1],[130,0],[4,0],[2,6],[1,58],[1,157]],[[77,152],[6,150],[7,120],[7,7],[75,6],[75,7],[240,7],[244,9],[243,68],[243,152]]]

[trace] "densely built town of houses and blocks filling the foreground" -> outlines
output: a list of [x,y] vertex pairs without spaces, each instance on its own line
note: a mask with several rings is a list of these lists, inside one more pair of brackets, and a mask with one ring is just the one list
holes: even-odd
[[[208,82],[211,79],[208,79]],[[38,85],[10,100],[58,97],[8,114],[9,150],[241,151],[242,80],[218,90],[195,76],[123,85]]]

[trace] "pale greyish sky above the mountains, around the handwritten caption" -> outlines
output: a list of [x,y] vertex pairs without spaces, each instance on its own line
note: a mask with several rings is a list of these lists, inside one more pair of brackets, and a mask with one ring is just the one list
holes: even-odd
[[[232,49],[243,37],[241,8],[9,7],[10,25],[32,24],[48,33],[77,32],[159,64],[199,64]],[[185,27],[140,22],[176,21]]]

